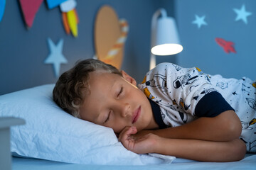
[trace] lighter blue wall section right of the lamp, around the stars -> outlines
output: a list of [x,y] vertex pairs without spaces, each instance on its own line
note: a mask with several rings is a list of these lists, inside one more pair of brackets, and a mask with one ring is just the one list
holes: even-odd
[[[247,24],[238,20],[234,8],[252,13]],[[177,57],[183,67],[199,67],[208,74],[256,79],[256,1],[255,0],[176,0],[176,19],[184,50]],[[198,28],[195,15],[206,16],[207,25]],[[235,43],[236,53],[226,53],[215,42],[223,38]]]

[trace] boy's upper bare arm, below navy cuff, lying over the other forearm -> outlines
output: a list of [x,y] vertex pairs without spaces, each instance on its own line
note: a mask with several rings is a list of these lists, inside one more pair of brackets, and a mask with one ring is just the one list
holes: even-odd
[[154,133],[171,139],[230,141],[237,139],[241,130],[242,125],[238,115],[234,111],[225,111],[213,118],[201,117],[175,128],[145,130],[139,132],[138,136]]

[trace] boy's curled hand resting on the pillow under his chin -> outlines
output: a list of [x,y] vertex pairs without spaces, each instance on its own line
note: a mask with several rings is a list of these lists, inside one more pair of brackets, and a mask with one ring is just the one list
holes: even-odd
[[136,137],[136,127],[126,127],[119,134],[119,141],[122,142],[124,147],[137,154],[154,153],[156,149],[157,140],[160,137],[153,134]]

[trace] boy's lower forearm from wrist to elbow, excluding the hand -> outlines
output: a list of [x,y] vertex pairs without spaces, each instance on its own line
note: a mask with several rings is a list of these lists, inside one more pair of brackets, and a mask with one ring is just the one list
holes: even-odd
[[203,162],[233,162],[245,157],[246,147],[242,140],[213,142],[206,140],[176,140],[159,138],[159,154],[193,159]]

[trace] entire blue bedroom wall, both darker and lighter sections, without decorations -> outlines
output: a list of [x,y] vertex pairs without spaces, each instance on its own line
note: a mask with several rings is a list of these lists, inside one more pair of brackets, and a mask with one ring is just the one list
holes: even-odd
[[[199,67],[208,74],[224,77],[242,76],[256,79],[256,1],[255,0],[77,0],[80,18],[78,38],[66,35],[60,9],[48,9],[46,1],[39,8],[33,26],[27,29],[19,1],[6,1],[0,22],[0,95],[57,81],[52,64],[43,64],[50,51],[47,38],[56,44],[64,40],[63,55],[68,64],[61,64],[60,74],[80,59],[95,55],[93,28],[102,5],[114,8],[119,18],[129,22],[129,35],[124,49],[122,69],[142,81],[149,69],[151,17],[160,7],[175,16],[184,47],[174,56],[157,57],[159,62],[174,62],[182,67]],[[245,4],[247,24],[235,21],[233,8]],[[192,22],[195,15],[206,16],[207,26]],[[223,38],[235,43],[237,53],[225,53],[215,42]]]

